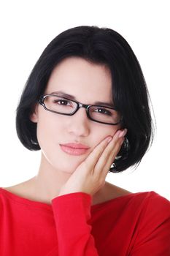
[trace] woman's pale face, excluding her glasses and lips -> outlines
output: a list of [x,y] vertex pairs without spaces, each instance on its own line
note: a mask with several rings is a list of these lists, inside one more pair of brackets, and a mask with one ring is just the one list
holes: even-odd
[[[113,103],[109,69],[79,57],[63,59],[53,69],[45,94],[55,92],[61,95],[57,91],[71,94],[75,100],[87,105],[95,105],[94,102]],[[37,105],[31,121],[37,122],[37,138],[47,162],[56,170],[66,173],[73,173],[101,140],[120,129],[120,125],[90,120],[85,108],[80,108],[73,116],[64,116]],[[82,143],[89,149],[82,155],[70,155],[61,149],[60,144],[65,143]]]

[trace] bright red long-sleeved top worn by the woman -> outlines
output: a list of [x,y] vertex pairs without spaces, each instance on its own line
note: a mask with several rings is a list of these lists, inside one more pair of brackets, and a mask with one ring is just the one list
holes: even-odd
[[50,205],[0,188],[0,255],[170,255],[169,200],[155,192],[91,199],[74,192]]

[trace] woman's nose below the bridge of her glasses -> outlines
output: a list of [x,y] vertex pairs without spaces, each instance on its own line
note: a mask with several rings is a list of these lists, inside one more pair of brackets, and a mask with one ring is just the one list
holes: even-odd
[[73,116],[67,116],[68,121],[68,131],[74,134],[76,137],[88,136],[90,128],[90,119],[87,116],[85,108],[79,108]]

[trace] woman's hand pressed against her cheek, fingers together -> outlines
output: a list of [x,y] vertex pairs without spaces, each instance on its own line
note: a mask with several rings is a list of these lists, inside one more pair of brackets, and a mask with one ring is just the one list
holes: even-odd
[[[102,140],[61,187],[59,196],[74,192],[85,192],[91,196],[96,194],[105,184],[109,168],[120,151],[126,132],[127,129],[118,130],[113,138],[109,136]],[[112,140],[108,142],[108,138]]]

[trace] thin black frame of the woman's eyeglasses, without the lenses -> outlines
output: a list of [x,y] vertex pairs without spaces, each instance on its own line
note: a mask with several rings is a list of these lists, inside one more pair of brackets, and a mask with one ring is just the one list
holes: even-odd
[[[71,102],[75,102],[75,103],[77,104],[77,108],[74,110],[73,113],[70,113],[70,114],[61,113],[61,112],[57,112],[57,111],[54,111],[54,110],[50,110],[50,109],[46,108],[46,105],[45,105],[45,98],[46,98],[47,96],[55,96],[55,97],[57,96],[57,97],[61,97],[62,99],[67,99],[67,100],[69,100],[69,101],[71,101]],[[42,95],[42,96],[39,98],[39,104],[42,105],[42,106],[45,108],[45,110],[47,110],[47,111],[50,111],[50,112],[53,112],[53,113],[58,113],[59,115],[65,115],[65,116],[73,116],[74,113],[76,113],[80,108],[85,108],[88,118],[89,118],[90,120],[92,120],[92,121],[96,121],[96,120],[90,117],[90,114],[89,114],[89,108],[90,108],[90,107],[109,108],[109,109],[112,109],[112,110],[116,110],[116,111],[117,111],[117,109],[115,109],[115,108],[110,108],[110,107],[107,107],[107,106],[83,104],[83,103],[77,102],[76,100],[68,99],[68,98],[66,98],[66,97],[59,96],[59,95],[56,95],[56,94],[46,94],[46,95]],[[97,122],[97,123],[101,123],[101,124],[117,125],[117,124],[120,124],[122,121],[123,121],[123,116],[120,116],[120,121],[118,121],[118,122],[115,123],[115,124],[109,124],[109,123],[105,123],[105,122],[102,122],[102,121],[96,121],[96,122]]]

